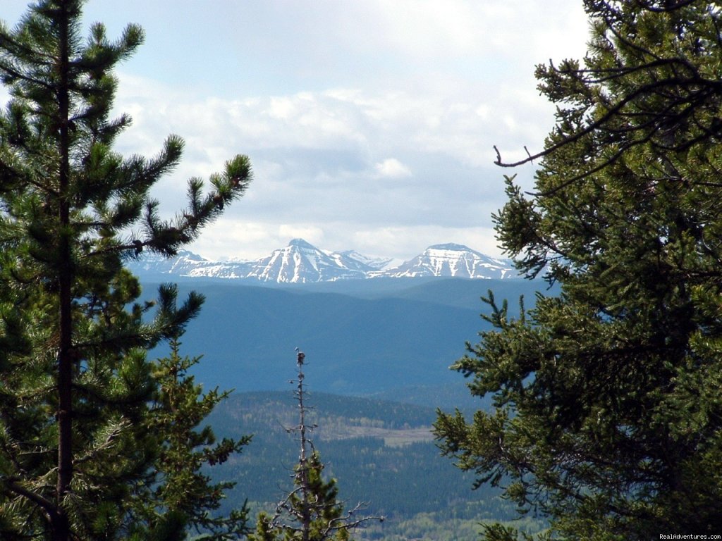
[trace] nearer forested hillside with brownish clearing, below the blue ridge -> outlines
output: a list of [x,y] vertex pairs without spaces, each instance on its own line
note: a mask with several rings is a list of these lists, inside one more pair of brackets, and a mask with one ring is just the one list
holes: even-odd
[[[339,480],[342,499],[349,506],[367,502],[368,514],[387,517],[364,536],[432,539],[454,522],[468,529],[469,537],[459,529],[457,539],[471,540],[478,537],[479,520],[517,518],[500,491],[472,491],[473,475],[440,457],[430,431],[433,408],[316,392],[308,402],[310,423],[318,425],[314,444],[327,463],[326,475]],[[254,509],[272,510],[289,490],[298,449],[287,428],[297,424],[297,415],[290,390],[236,393],[214,410],[209,421],[218,435],[253,434],[248,449],[222,468],[224,478],[238,481],[229,506],[250,498]],[[515,524],[544,526],[533,519]]]

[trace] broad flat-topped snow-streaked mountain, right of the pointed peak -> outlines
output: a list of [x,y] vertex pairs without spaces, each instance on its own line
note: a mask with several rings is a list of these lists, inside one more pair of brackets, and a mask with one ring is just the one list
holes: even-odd
[[412,260],[396,268],[371,273],[371,276],[510,278],[516,276],[516,271],[508,260],[490,258],[464,245],[445,244],[430,246]]

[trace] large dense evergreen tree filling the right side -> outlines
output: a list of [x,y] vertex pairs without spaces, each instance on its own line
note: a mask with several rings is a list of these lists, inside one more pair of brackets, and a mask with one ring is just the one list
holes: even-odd
[[537,69],[557,121],[523,160],[534,191],[507,177],[495,215],[520,271],[561,292],[519,317],[489,296],[493,329],[454,368],[495,407],[439,413],[436,435],[549,537],[719,534],[722,3],[585,6],[588,56]]

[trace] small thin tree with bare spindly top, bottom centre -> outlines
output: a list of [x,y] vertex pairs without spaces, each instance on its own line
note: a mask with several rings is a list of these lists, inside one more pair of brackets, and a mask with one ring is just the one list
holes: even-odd
[[321,454],[310,439],[310,432],[315,425],[308,424],[308,405],[303,381],[305,374],[305,354],[301,351],[296,357],[298,366],[297,389],[299,422],[289,432],[298,434],[300,443],[298,463],[294,469],[294,488],[276,507],[273,516],[261,512],[258,515],[256,532],[251,534],[250,541],[346,541],[351,533],[370,520],[383,522],[383,516],[357,516],[362,509],[358,504],[349,511],[344,511],[344,504],[339,501],[339,490],[336,480],[323,480],[325,465]]

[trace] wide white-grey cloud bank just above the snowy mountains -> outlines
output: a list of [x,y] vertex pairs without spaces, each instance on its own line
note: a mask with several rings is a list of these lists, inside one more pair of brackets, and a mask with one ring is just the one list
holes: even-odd
[[[152,155],[170,131],[186,138],[181,166],[155,190],[169,214],[184,204],[188,177],[207,177],[237,153],[251,157],[255,180],[245,197],[196,243],[201,255],[214,258],[260,257],[293,237],[340,250],[340,242],[332,244],[342,234],[350,242],[357,232],[419,225],[455,233],[427,244],[463,243],[461,229],[490,231],[490,215],[503,204],[503,172],[492,166],[492,145],[516,151],[544,135],[534,102],[512,92],[482,101],[336,88],[225,100],[169,89],[175,94],[168,100],[155,82],[137,90],[121,94],[118,109],[142,120],[122,136],[119,150]],[[505,106],[494,107],[495,101]],[[487,110],[486,118],[479,114]],[[502,117],[500,110],[508,113]],[[380,185],[380,179],[403,182]],[[263,235],[259,224],[267,229]],[[406,237],[419,231],[432,229]],[[390,251],[382,246],[388,235],[367,238],[378,244],[371,253]]]

